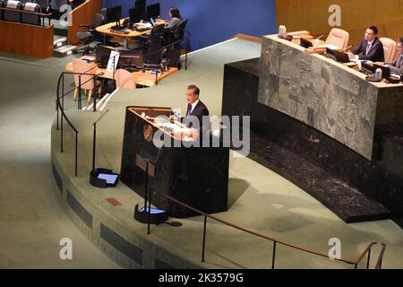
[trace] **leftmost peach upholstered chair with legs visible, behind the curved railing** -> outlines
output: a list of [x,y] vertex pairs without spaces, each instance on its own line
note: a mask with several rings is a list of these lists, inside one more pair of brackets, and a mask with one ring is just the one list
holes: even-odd
[[84,90],[85,96],[87,96],[87,91],[90,91],[88,95],[88,102],[90,102],[91,100],[92,91],[97,87],[99,89],[98,96],[100,97],[101,83],[100,81],[94,83],[94,76],[92,75],[97,73],[97,68],[98,66],[95,63],[87,63],[87,61],[81,59],[73,60],[73,73],[86,73],[81,75],[81,80],[80,74],[74,74],[74,83],[76,87],[74,90],[74,100],[77,100],[79,91],[78,89]]

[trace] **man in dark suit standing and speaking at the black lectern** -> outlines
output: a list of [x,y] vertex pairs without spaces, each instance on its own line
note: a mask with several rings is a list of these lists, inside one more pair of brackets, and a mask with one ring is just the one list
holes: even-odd
[[[209,109],[199,100],[199,94],[200,94],[200,89],[191,84],[187,87],[186,90],[186,100],[187,100],[187,110],[186,110],[186,117],[183,118],[183,123],[187,127],[193,127],[196,128],[199,126],[200,131],[204,131],[204,128],[202,128],[203,121],[202,117],[203,116],[209,116]],[[176,116],[171,116],[171,118],[175,118]],[[176,120],[178,118],[176,117]],[[193,125],[196,124],[194,121],[198,120],[199,125]],[[205,126],[205,128],[209,128],[209,126]]]

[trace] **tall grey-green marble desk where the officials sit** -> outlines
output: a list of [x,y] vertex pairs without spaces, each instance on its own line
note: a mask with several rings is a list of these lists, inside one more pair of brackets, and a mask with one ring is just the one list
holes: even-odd
[[277,35],[263,37],[258,101],[313,126],[368,160],[375,127],[403,125],[403,84],[352,68]]

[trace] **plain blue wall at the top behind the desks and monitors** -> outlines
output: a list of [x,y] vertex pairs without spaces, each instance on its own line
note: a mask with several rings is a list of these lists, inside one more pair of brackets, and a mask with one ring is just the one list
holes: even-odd
[[[177,7],[186,30],[192,34],[192,49],[210,46],[242,33],[261,37],[275,33],[274,0],[148,0],[147,4],[161,4],[161,17],[168,19],[169,7]],[[134,6],[134,0],[104,0],[104,6],[122,5],[122,13]]]

